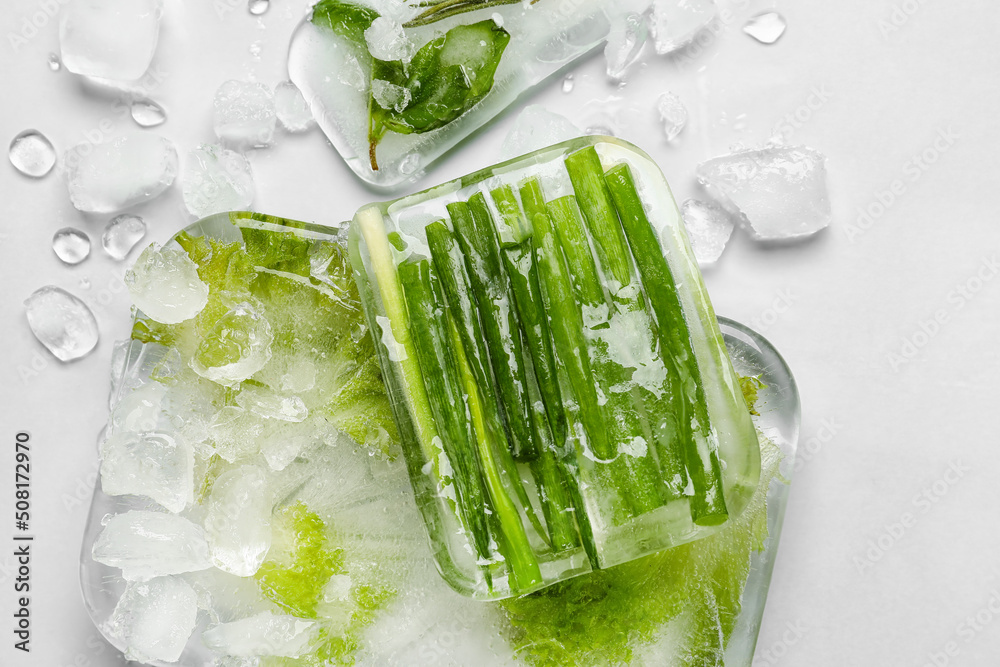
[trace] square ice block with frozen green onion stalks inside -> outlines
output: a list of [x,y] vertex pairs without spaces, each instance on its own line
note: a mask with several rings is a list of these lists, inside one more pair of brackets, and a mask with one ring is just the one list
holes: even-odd
[[351,260],[445,580],[522,595],[740,516],[760,447],[670,188],[587,137],[362,208]]

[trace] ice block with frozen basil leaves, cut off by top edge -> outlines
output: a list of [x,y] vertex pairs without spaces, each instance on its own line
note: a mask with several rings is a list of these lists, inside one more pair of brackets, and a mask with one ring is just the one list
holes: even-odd
[[354,173],[385,188],[417,179],[610,29],[599,0],[371,6],[318,2],[288,72]]

